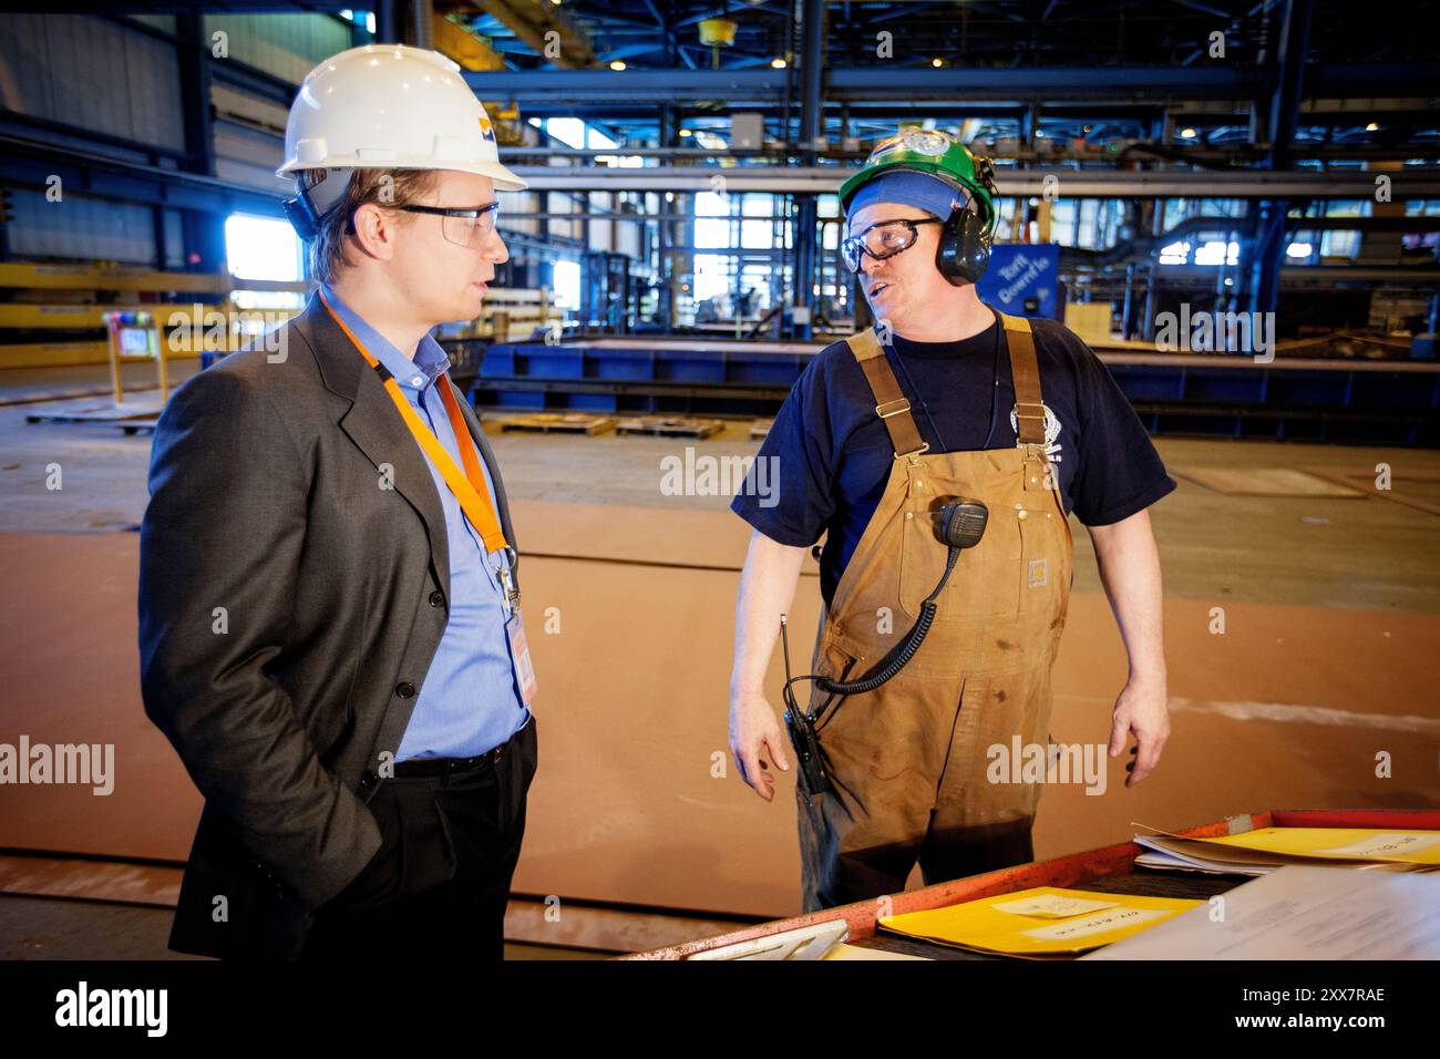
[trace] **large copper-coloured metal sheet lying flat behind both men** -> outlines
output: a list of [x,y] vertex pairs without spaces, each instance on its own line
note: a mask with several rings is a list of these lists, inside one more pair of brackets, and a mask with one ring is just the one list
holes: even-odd
[[[740,784],[727,748],[746,527],[716,511],[541,503],[517,506],[517,522],[528,552],[540,768],[516,892],[798,912],[791,778],[766,804]],[[562,558],[586,552],[608,560]],[[23,732],[33,742],[114,743],[117,779],[109,795],[4,788],[0,847],[170,862],[189,852],[200,797],[141,709],[135,563],[130,533],[4,537],[10,694],[0,742]],[[1161,768],[1133,790],[1122,761],[1107,762],[1104,794],[1047,788],[1038,857],[1128,841],[1132,821],[1179,830],[1254,805],[1440,801],[1431,679],[1440,617],[1230,602],[1225,631],[1214,634],[1212,605],[1165,605],[1172,733]],[[812,630],[816,609],[806,578],[793,628]],[[808,654],[808,634],[792,640],[796,656]],[[1125,673],[1104,596],[1077,592],[1056,669],[1054,739],[1103,743]],[[776,657],[776,705],[779,677]],[[1375,775],[1380,752],[1394,778]]]

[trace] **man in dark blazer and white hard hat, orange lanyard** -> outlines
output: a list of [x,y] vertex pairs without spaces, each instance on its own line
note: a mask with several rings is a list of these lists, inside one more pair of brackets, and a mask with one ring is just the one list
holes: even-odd
[[151,455],[143,696],[204,795],[170,947],[500,958],[534,677],[504,483],[429,331],[478,316],[524,183],[413,48],[317,66],[285,141],[320,290],[278,353],[180,386]]

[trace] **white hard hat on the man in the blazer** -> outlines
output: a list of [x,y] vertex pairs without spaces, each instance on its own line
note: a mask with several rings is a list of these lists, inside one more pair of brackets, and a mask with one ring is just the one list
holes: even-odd
[[503,192],[527,186],[500,164],[490,115],[459,66],[408,45],[351,48],[305,75],[275,176],[314,169],[455,169]]

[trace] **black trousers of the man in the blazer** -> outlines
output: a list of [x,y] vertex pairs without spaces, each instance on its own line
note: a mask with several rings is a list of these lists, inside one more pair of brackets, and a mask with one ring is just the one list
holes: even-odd
[[[501,960],[510,880],[536,772],[536,722],[468,769],[438,775],[396,765],[370,810],[395,857],[392,893],[373,908],[334,901],[315,909],[302,958],[446,955]],[[422,768],[433,768],[433,764]]]

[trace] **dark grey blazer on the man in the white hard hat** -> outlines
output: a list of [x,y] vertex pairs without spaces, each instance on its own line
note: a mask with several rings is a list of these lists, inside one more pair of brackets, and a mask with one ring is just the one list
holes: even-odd
[[[317,297],[284,330],[281,352],[248,347],[176,389],[151,450],[141,694],[204,795],[180,952],[298,951],[380,847],[366,803],[448,620],[425,455]],[[514,546],[500,468],[456,395]]]

